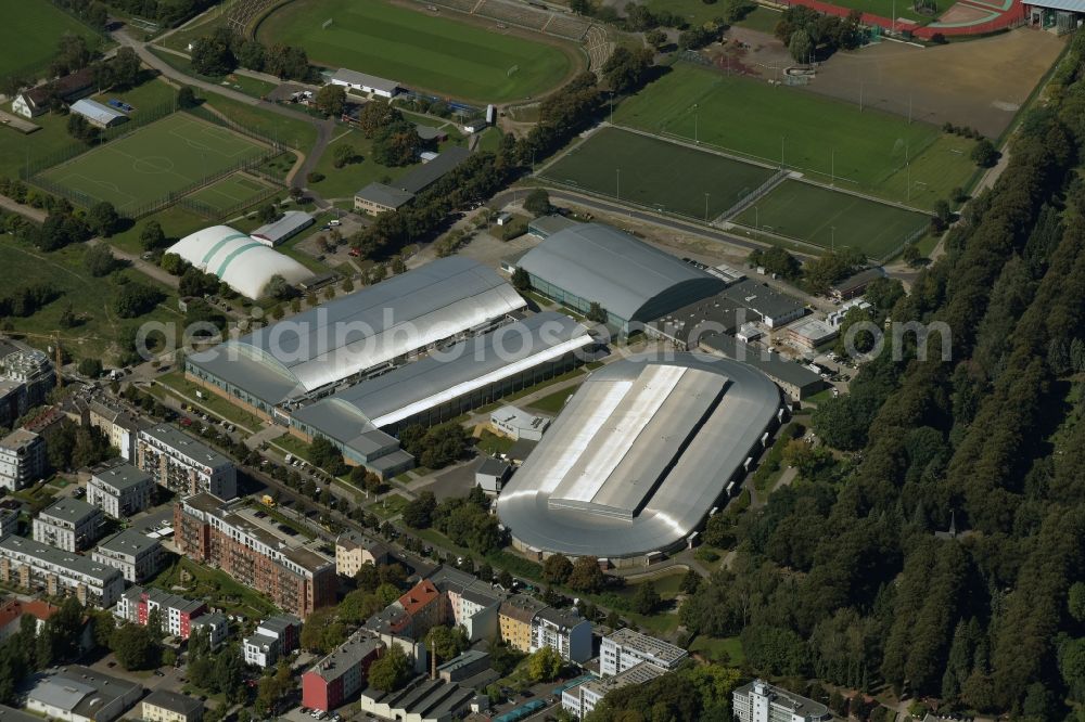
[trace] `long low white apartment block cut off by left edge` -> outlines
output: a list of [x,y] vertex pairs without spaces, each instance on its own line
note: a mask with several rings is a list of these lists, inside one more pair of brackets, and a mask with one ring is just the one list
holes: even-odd
[[92,559],[22,537],[0,539],[0,581],[84,605],[112,607],[125,590],[120,572]]

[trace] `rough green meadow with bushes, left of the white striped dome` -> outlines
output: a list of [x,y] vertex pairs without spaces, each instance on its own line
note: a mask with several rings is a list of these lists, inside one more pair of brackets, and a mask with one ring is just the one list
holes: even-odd
[[[27,341],[40,348],[51,343],[50,338],[55,332],[64,350],[75,359],[97,358],[112,363],[118,350],[115,343],[122,337],[124,327],[152,320],[175,324],[183,321],[177,311],[177,295],[173,289],[131,270],[117,273],[158,288],[165,299],[145,317],[118,318],[113,304],[119,276],[91,278],[84,267],[86,250],[86,246],[76,244],[47,254],[11,236],[0,236],[0,268],[3,268],[5,289],[47,283],[61,293],[56,300],[34,315],[9,317],[7,322],[11,323],[13,331],[35,334],[28,336]],[[62,328],[60,318],[69,305],[80,322],[74,328]]]

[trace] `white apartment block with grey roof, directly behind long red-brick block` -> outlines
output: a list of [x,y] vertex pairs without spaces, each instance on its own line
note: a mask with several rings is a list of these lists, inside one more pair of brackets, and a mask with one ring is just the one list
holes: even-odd
[[167,424],[139,433],[136,465],[155,484],[181,495],[206,491],[227,501],[238,495],[233,462]]

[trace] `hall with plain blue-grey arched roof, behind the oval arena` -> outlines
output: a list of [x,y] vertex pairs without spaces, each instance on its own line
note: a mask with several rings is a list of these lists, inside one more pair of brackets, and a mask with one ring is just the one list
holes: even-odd
[[622,331],[713,296],[726,283],[690,263],[599,223],[582,223],[549,235],[518,266],[532,287],[587,313],[598,304]]

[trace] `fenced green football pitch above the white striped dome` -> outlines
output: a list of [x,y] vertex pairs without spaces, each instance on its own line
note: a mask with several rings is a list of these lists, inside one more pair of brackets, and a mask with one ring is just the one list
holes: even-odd
[[94,202],[108,201],[125,212],[191,189],[201,179],[267,152],[266,146],[231,130],[175,113],[38,173],[34,180]]

